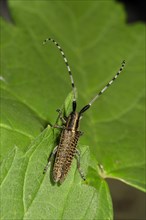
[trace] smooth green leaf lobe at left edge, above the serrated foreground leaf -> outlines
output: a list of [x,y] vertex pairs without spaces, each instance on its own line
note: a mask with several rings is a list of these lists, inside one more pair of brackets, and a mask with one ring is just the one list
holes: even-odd
[[1,88],[1,157],[14,148],[27,150],[43,129],[43,120],[10,91]]

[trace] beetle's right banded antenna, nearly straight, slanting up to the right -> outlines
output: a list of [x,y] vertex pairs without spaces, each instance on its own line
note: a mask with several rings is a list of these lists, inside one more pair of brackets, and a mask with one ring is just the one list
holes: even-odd
[[96,99],[99,98],[99,96],[101,96],[105,90],[115,81],[115,79],[117,79],[117,77],[120,75],[120,73],[122,72],[123,68],[125,66],[125,60],[123,60],[122,62],[122,66],[120,67],[119,71],[116,73],[116,75],[112,78],[111,81],[109,81],[109,83],[87,104],[85,105],[79,112],[79,114],[81,115],[83,112],[85,112],[88,108],[90,108],[90,106],[93,104],[93,102],[96,101]]

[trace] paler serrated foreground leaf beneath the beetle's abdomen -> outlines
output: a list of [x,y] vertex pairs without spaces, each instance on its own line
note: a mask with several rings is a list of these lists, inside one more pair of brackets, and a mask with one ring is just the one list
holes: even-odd
[[[49,127],[46,128],[25,154],[16,147],[7,160],[3,161],[2,219],[10,216],[11,219],[96,219],[97,216],[109,216],[108,205],[111,201],[107,200],[109,192],[106,182],[98,181],[99,193],[95,188],[85,185],[76,169],[75,160],[66,181],[60,186],[51,183],[50,168],[46,175],[43,174],[48,153],[54,147],[54,138],[56,139],[52,131]],[[88,158],[89,149],[84,146],[84,170],[87,169]],[[104,201],[104,205],[107,203],[104,211],[100,200]],[[98,203],[101,207],[97,206]]]

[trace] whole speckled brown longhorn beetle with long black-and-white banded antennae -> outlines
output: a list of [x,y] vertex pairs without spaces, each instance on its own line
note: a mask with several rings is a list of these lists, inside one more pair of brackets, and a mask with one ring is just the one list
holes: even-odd
[[62,54],[62,57],[66,64],[66,67],[67,67],[67,70],[70,76],[70,80],[71,80],[71,85],[72,85],[72,90],[73,90],[73,101],[72,101],[72,112],[69,114],[69,116],[63,117],[61,110],[57,110],[59,112],[59,118],[62,121],[63,125],[62,126],[54,125],[53,127],[61,128],[62,132],[61,132],[59,144],[54,148],[54,150],[51,152],[48,158],[48,163],[44,169],[44,173],[47,171],[53,156],[55,156],[55,162],[53,165],[53,180],[54,182],[62,183],[65,180],[68,174],[68,171],[70,170],[71,163],[73,161],[74,156],[76,156],[77,167],[78,167],[80,176],[82,177],[83,180],[85,180],[84,174],[80,168],[80,153],[78,149],[76,148],[79,137],[82,135],[82,132],[79,131],[80,119],[83,113],[87,111],[87,109],[90,108],[93,102],[95,102],[95,100],[98,99],[99,96],[102,95],[105,92],[105,90],[119,76],[119,74],[121,73],[121,71],[123,70],[125,66],[125,60],[122,62],[121,68],[116,73],[116,75],[112,78],[112,80],[98,94],[96,94],[96,96],[87,105],[85,105],[79,112],[76,112],[77,103],[76,103],[75,84],[74,84],[73,76],[72,76],[68,61],[60,45],[54,39],[47,38],[46,40],[44,40],[43,44],[46,44],[46,42],[48,41],[53,42],[59,49],[60,53]]

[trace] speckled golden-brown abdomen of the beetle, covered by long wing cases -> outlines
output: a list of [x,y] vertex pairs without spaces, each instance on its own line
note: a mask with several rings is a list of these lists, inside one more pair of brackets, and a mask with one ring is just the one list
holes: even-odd
[[79,137],[80,131],[62,131],[53,167],[53,179],[55,182],[62,183],[70,170]]

